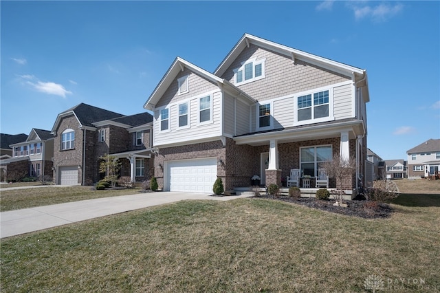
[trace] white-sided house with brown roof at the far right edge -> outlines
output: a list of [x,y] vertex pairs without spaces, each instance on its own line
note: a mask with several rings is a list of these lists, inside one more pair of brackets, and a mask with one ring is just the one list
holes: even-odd
[[440,175],[440,139],[427,140],[406,151],[408,155],[408,178]]

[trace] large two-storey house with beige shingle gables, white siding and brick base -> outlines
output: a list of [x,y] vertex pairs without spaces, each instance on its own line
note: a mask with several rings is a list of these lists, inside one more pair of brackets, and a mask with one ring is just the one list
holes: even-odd
[[[214,74],[177,57],[146,101],[154,112],[155,176],[164,191],[212,193],[315,177],[333,155],[366,168],[366,71],[245,34]],[[312,183],[313,185],[313,183]],[[314,186],[314,185],[313,185]],[[331,180],[331,187],[336,181]]]

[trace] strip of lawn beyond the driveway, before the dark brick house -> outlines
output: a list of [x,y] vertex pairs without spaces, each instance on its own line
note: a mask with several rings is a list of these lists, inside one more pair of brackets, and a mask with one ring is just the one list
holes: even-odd
[[2,190],[0,192],[0,211],[62,204],[64,202],[76,202],[78,200],[100,197],[132,195],[139,193],[139,191],[140,188],[97,191],[93,186],[46,186],[9,191]]

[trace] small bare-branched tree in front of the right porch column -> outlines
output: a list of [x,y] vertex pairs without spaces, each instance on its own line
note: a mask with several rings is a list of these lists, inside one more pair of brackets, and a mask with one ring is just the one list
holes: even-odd
[[320,168],[325,169],[329,177],[338,180],[339,186],[336,186],[336,202],[341,204],[342,196],[344,195],[342,180],[353,176],[356,170],[356,161],[353,158],[342,158],[340,155],[333,155],[333,160],[320,164]]

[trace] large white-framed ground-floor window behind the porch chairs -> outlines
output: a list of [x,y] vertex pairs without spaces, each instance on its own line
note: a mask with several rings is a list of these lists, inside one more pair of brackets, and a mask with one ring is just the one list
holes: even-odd
[[318,176],[318,169],[324,162],[332,160],[331,146],[308,146],[300,148],[300,169],[304,175]]

